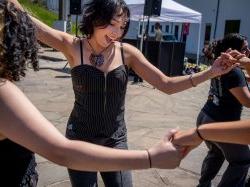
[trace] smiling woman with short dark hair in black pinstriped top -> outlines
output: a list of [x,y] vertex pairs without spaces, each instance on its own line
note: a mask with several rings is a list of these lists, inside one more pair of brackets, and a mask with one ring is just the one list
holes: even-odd
[[[9,0],[22,9],[17,0]],[[66,137],[107,147],[128,149],[125,96],[128,70],[166,94],[173,94],[230,71],[235,65],[219,58],[206,71],[168,77],[135,47],[120,42],[130,23],[124,0],[85,1],[80,30],[82,38],[50,28],[32,18],[37,38],[61,51],[71,67],[74,108]],[[72,186],[96,186],[97,172],[69,169]],[[132,186],[130,171],[101,172],[106,186]]]

